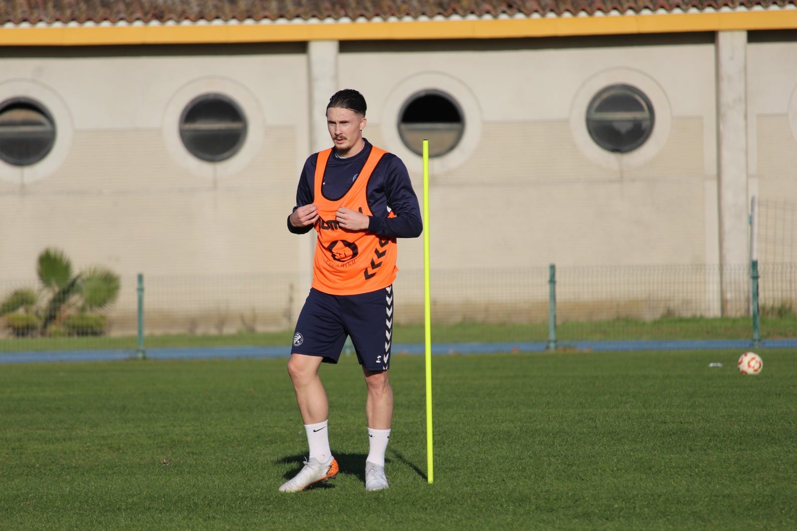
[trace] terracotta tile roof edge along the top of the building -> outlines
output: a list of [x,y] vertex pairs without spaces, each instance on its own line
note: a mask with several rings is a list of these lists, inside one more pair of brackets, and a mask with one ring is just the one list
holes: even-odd
[[795,5],[797,0],[2,0],[0,24],[497,17]]

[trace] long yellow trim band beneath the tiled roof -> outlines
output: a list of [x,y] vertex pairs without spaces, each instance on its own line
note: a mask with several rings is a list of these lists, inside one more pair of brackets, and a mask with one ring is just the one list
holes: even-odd
[[739,10],[430,21],[4,26],[0,45],[90,46],[563,37],[797,29],[797,10]]

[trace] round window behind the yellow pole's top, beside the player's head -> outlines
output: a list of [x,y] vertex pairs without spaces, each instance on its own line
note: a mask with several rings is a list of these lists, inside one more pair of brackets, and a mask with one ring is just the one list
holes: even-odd
[[446,155],[457,147],[465,132],[465,118],[459,105],[437,90],[410,96],[398,116],[398,135],[416,155],[423,153],[423,140],[429,140],[430,157]]

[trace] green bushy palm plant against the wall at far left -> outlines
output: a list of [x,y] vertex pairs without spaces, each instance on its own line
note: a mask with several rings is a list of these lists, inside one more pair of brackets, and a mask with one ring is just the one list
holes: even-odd
[[107,309],[119,296],[116,273],[92,266],[73,275],[69,257],[54,247],[39,254],[36,273],[41,282],[38,289],[15,289],[0,303],[0,317],[6,316],[18,336],[44,336],[54,324]]

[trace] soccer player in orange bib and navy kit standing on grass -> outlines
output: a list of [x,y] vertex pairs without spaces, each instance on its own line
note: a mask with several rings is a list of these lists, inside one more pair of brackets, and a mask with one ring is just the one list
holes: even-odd
[[396,155],[363,138],[363,95],[336,92],[327,105],[333,148],[310,155],[296,190],[288,229],[316,229],[312,288],[304,301],[288,362],[296,402],[307,433],[309,458],[299,474],[280,487],[296,492],[335,478],[338,463],[328,438],[329,404],[318,369],[336,364],[351,337],[363,368],[369,451],[366,490],[387,489],[385,450],[391,434],[393,281],[396,238],[422,232],[418,197]]

